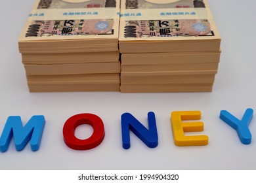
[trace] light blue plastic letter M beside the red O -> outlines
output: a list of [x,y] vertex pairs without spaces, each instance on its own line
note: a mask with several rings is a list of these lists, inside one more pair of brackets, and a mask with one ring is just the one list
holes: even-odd
[[44,116],[32,116],[23,127],[20,116],[9,116],[0,139],[0,150],[5,152],[9,148],[12,136],[16,150],[23,150],[30,141],[33,151],[37,151],[40,146],[43,129],[45,127]]

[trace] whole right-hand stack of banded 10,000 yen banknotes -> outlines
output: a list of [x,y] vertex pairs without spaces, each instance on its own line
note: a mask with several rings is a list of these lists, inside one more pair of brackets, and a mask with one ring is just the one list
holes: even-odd
[[121,92],[211,92],[220,43],[205,0],[121,0]]

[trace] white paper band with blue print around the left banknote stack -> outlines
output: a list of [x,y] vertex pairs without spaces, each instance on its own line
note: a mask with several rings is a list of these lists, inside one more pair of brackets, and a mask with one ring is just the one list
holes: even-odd
[[28,20],[119,19],[119,8],[72,8],[32,10]]

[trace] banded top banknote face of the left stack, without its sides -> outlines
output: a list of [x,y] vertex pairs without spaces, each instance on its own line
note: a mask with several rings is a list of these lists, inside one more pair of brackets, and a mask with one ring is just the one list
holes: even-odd
[[119,0],[35,0],[19,41],[118,39]]

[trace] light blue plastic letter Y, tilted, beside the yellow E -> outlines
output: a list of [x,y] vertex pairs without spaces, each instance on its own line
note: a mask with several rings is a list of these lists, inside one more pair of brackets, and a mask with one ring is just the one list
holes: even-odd
[[253,118],[253,109],[247,108],[241,121],[226,110],[221,110],[220,118],[223,122],[236,129],[238,137],[243,144],[251,143],[251,132],[248,126]]

